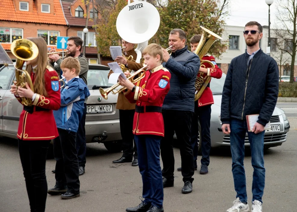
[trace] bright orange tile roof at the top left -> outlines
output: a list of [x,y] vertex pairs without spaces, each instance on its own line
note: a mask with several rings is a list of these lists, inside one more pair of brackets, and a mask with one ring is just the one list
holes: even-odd
[[37,12],[34,3],[33,12],[19,11],[18,8],[14,7],[13,0],[1,0],[0,20],[67,25],[60,1],[51,1],[54,1],[54,14]]

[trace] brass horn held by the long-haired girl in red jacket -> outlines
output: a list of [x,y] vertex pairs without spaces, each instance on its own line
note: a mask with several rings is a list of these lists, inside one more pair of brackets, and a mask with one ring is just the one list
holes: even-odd
[[[31,90],[34,92],[31,77],[26,70],[23,70],[23,65],[25,61],[33,60],[38,56],[38,47],[30,40],[17,39],[11,43],[10,50],[11,53],[17,58],[16,64],[14,65],[16,77],[14,84],[17,87],[26,88],[27,82]],[[22,97],[21,99],[23,105],[32,105],[32,100],[30,98]]]

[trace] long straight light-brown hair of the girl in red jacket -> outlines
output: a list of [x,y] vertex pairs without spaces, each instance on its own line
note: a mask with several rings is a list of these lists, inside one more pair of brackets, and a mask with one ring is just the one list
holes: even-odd
[[[47,59],[47,45],[43,38],[29,38],[38,47],[37,68],[35,70],[35,81],[33,84],[34,92],[47,97],[45,90],[44,73],[46,66],[49,66]],[[27,65],[26,70],[31,74],[32,66]]]

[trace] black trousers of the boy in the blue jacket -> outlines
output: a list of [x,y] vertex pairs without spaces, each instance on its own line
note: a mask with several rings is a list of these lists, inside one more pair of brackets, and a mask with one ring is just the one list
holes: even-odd
[[56,187],[67,192],[80,193],[78,159],[76,151],[76,133],[58,128],[59,137],[54,139],[56,160]]

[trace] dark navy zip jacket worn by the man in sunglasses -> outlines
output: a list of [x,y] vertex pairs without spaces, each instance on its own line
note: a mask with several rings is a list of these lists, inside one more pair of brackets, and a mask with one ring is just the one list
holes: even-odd
[[260,114],[258,123],[266,125],[274,111],[278,96],[279,70],[276,61],[261,49],[247,64],[249,54],[231,61],[226,76],[221,121],[245,120],[246,115]]

